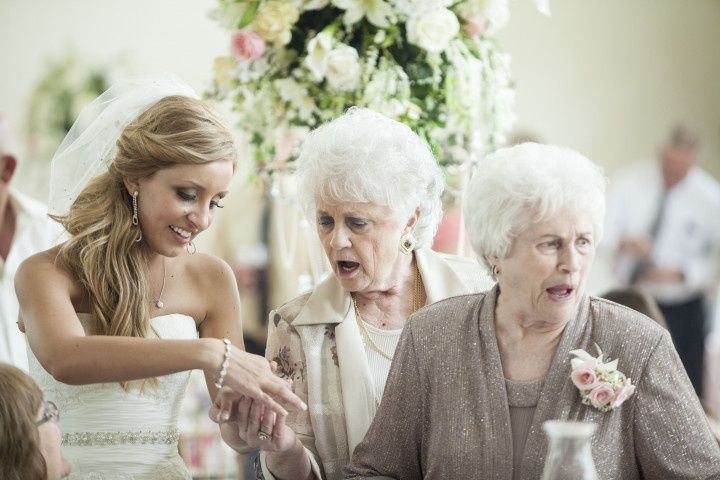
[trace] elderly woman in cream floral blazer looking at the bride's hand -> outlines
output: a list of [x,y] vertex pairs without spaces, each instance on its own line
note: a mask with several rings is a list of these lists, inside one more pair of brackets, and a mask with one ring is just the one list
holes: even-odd
[[244,398],[223,432],[238,450],[262,449],[265,478],[338,479],[375,416],[406,319],[491,282],[473,260],[430,250],[444,182],[406,125],[352,108],[310,135],[297,176],[333,274],[271,312],[266,355],[308,411],[275,420]]

